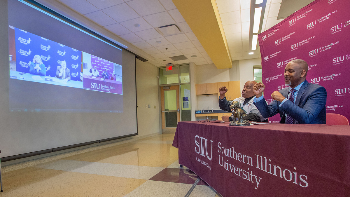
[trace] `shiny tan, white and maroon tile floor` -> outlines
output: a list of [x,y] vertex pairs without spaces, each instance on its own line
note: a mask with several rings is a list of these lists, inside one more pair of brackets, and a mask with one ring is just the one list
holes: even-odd
[[[2,174],[0,197],[183,197],[198,178],[180,168],[174,134],[94,150]],[[219,197],[200,181],[190,197]]]

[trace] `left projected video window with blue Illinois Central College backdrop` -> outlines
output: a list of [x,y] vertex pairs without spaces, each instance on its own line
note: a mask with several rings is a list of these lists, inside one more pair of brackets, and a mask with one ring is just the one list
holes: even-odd
[[[74,83],[72,87],[82,88],[82,77],[80,77],[81,51],[26,32],[25,30],[14,29],[16,72],[10,72],[10,78],[70,86],[66,85],[69,82],[62,82],[62,74],[58,76],[61,72],[62,61],[65,61],[67,69],[63,72],[66,75],[64,78],[68,78],[70,75],[71,81],[81,82],[81,84],[72,82]],[[35,66],[37,67],[35,68]],[[21,77],[18,75],[19,73],[28,74],[22,74]]]

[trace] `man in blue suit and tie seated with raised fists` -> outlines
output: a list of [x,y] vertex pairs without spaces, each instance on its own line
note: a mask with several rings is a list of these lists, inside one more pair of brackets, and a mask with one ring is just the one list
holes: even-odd
[[324,87],[307,82],[308,65],[304,60],[292,60],[285,68],[285,84],[289,86],[271,94],[273,101],[267,105],[262,92],[265,85],[253,87],[254,105],[263,117],[280,113],[280,123],[325,124],[327,92]]

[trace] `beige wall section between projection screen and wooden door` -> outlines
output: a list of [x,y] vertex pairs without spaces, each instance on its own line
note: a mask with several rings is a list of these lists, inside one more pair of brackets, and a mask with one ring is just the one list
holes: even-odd
[[[158,68],[136,59],[137,118],[139,136],[159,133]],[[145,105],[151,108],[145,108]],[[154,109],[154,106],[156,108]]]

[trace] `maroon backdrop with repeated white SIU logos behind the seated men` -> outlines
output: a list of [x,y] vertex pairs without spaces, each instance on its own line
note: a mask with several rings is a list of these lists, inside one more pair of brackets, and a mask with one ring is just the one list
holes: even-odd
[[[259,34],[265,99],[285,88],[284,69],[294,59],[309,65],[306,80],[327,90],[327,113],[350,120],[350,2],[315,0]],[[269,118],[279,122],[279,114]]]

